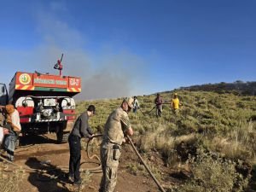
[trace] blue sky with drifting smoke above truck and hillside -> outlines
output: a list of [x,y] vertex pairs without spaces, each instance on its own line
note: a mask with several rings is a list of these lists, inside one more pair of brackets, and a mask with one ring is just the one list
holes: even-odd
[[1,82],[80,76],[80,99],[255,81],[256,1],[0,0]]

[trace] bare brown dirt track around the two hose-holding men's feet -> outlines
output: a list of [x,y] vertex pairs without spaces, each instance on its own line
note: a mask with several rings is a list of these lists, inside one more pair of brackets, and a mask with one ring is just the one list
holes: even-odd
[[[95,152],[97,154],[97,152]],[[4,154],[3,154],[4,156]],[[145,157],[160,168],[160,183],[166,189],[176,183],[172,171],[165,167],[159,154],[150,154]],[[25,168],[26,172],[21,179],[20,192],[57,192],[75,191],[65,174],[68,169],[69,148],[68,143],[55,143],[55,135],[21,137],[20,147],[15,150],[15,164]],[[98,166],[96,159],[90,160],[85,149],[82,150],[83,169]],[[125,144],[119,164],[118,183],[116,192],[153,192],[160,191],[148,172],[137,170],[131,172],[129,165],[139,165],[137,155],[129,144]],[[47,173],[39,173],[36,170],[48,170]],[[80,191],[96,192],[99,189],[102,173],[91,173],[90,181],[87,181]]]

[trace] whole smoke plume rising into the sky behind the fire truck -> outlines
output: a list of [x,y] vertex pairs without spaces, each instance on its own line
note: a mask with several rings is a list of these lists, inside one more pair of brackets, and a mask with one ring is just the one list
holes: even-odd
[[[56,9],[58,4],[52,5]],[[62,8],[65,9],[65,6]],[[99,45],[95,54],[86,46],[86,34],[69,26],[54,14],[44,10],[37,12],[37,32],[41,44],[33,49],[6,50],[0,48],[0,59],[9,63],[15,71],[40,73],[59,72],[53,67],[63,57],[63,75],[82,78],[82,92],[79,100],[114,98],[137,95],[133,84],[145,72],[145,61],[131,51],[112,47],[110,43]],[[105,49],[106,47],[110,49]],[[15,55],[15,58],[12,57]],[[1,61],[1,62],[2,62]],[[14,74],[15,72],[13,72]],[[10,80],[10,79],[9,79]],[[137,84],[139,85],[139,84]]]

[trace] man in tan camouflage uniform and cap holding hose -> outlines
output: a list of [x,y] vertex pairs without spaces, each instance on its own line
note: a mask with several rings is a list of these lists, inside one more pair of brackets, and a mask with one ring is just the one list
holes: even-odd
[[119,108],[109,114],[105,124],[101,144],[103,176],[100,192],[113,192],[115,188],[121,144],[125,142],[125,135],[133,135],[128,117],[128,113],[133,108],[132,102],[131,97],[125,99]]

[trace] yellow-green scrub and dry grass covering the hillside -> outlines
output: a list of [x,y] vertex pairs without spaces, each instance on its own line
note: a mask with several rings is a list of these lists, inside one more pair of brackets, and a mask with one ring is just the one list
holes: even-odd
[[[187,179],[170,187],[176,191],[244,191],[254,182],[256,164],[256,102],[255,96],[234,92],[176,90],[182,104],[173,114],[164,104],[161,118],[154,113],[154,95],[137,96],[141,109],[130,113],[135,131],[133,140],[139,151],[160,154],[166,169],[186,170]],[[173,92],[161,93],[170,103]],[[96,117],[90,119],[95,131],[102,132],[108,114],[119,107],[122,99],[79,102],[78,112],[89,104],[96,105]],[[143,113],[142,113],[143,112]],[[150,160],[149,160],[150,161]],[[166,181],[165,174],[157,177]],[[133,174],[143,172],[139,164],[130,164]]]

